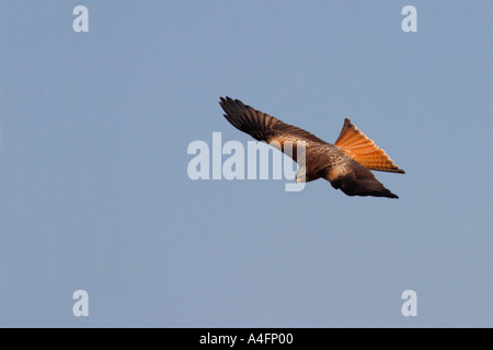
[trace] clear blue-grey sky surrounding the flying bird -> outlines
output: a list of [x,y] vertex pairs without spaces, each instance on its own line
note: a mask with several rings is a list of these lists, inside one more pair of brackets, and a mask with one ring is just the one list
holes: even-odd
[[[0,326],[492,327],[492,13],[1,1]],[[406,171],[376,173],[400,199],[191,180],[190,142],[252,140],[225,95],[329,142],[351,118]]]

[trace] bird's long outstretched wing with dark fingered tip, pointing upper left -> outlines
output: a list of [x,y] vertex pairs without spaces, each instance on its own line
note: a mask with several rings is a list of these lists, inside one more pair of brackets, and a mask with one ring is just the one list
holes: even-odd
[[244,105],[239,100],[230,97],[220,97],[220,100],[219,104],[226,112],[225,118],[255,140],[267,143],[277,141],[282,147],[285,141],[290,141],[293,144],[300,141],[326,143],[314,135]]

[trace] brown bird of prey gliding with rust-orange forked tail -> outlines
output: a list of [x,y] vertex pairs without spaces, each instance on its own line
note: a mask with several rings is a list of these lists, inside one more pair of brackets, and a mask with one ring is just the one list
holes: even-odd
[[[349,119],[344,120],[341,135],[334,144],[314,135],[280,121],[265,113],[244,105],[239,100],[220,97],[226,119],[237,129],[249,133],[255,140],[278,148],[297,162],[296,148],[302,144],[305,164],[296,175],[297,182],[318,178],[329,180],[335,189],[347,196],[374,196],[399,198],[387,189],[370,172],[381,171],[404,174],[404,171],[378,148],[374,141],[359,131]],[[289,142],[290,152],[286,152]]]

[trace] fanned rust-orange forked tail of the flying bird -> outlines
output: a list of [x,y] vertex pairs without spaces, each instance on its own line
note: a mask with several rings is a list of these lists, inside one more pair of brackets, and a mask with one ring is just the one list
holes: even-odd
[[404,171],[397,166],[382,149],[379,149],[347,118],[344,120],[335,145],[367,168],[404,174]]

